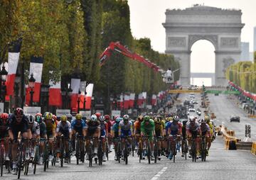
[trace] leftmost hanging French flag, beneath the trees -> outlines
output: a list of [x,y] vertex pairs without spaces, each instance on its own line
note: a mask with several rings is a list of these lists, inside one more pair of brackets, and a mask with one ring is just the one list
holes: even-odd
[[6,96],[14,95],[14,81],[21,51],[21,40],[14,42],[8,52],[8,75],[6,77]]

